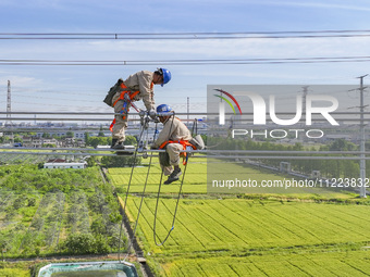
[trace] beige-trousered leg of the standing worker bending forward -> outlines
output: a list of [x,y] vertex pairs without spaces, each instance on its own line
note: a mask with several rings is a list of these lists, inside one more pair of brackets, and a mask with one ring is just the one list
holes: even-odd
[[[114,113],[120,113],[122,111],[124,101],[120,100],[114,105]],[[125,118],[123,118],[125,117]],[[125,140],[125,129],[127,128],[127,114],[115,115],[115,124],[112,129],[112,148],[123,149],[123,141]]]

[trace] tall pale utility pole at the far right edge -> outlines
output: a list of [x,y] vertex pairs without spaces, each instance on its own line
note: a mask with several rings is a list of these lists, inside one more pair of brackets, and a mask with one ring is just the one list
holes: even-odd
[[363,123],[363,78],[368,76],[363,75],[358,77],[360,79],[360,198],[367,198],[366,196],[366,160],[365,160],[365,123]]

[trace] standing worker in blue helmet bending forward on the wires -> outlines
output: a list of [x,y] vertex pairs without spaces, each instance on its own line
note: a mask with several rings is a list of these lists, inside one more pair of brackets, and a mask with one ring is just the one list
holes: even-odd
[[[128,111],[133,106],[140,112],[133,103],[143,99],[150,117],[156,117],[153,85],[168,84],[171,80],[171,72],[165,68],[158,68],[156,72],[140,71],[127,79],[119,79],[110,89],[103,102],[114,108],[114,119],[110,126],[112,131],[113,149],[124,149],[125,129],[127,128]],[[141,111],[143,113],[143,111]]]

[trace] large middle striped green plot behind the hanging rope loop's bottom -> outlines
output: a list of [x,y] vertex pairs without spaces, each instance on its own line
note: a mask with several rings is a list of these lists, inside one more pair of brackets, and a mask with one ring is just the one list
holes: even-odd
[[[165,249],[153,243],[156,200],[146,199],[139,223],[143,240],[153,253],[225,251],[249,253],[256,249],[311,248],[347,242],[366,243],[370,227],[367,205],[330,205],[300,202],[252,202],[239,199],[181,200],[175,228]],[[136,215],[139,198],[130,198]],[[170,230],[175,200],[161,199],[157,235]]]

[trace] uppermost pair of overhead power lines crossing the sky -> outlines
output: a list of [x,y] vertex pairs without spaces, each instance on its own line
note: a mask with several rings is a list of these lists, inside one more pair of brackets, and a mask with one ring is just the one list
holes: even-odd
[[370,30],[180,32],[180,33],[0,33],[0,39],[249,39],[369,37]]

